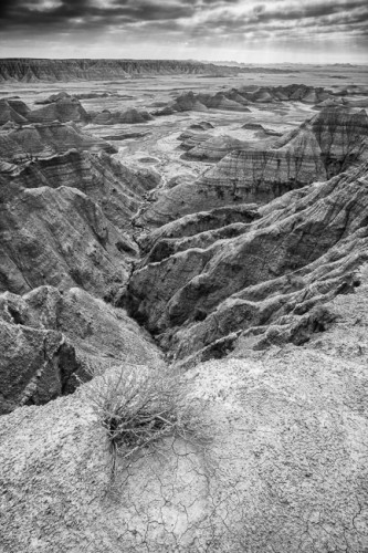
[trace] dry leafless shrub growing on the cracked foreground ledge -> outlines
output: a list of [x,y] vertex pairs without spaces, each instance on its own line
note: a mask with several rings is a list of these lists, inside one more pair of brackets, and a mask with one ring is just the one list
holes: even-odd
[[99,377],[88,397],[113,452],[126,461],[157,450],[166,437],[209,440],[203,401],[188,396],[185,379],[165,367],[126,363]]

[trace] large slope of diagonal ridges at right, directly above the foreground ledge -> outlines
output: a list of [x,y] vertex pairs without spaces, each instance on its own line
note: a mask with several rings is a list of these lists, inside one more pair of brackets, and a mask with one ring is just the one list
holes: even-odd
[[328,323],[311,313],[314,305],[353,290],[368,260],[367,171],[364,164],[290,192],[242,227],[197,231],[190,216],[157,230],[146,242],[147,264],[129,281],[130,313],[179,358],[271,323],[281,325],[280,340],[303,343],[308,324],[317,327],[318,316]]

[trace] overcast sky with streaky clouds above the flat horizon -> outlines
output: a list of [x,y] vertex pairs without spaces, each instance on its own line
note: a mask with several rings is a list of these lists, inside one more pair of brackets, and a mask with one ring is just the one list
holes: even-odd
[[1,0],[0,56],[367,63],[367,0]]

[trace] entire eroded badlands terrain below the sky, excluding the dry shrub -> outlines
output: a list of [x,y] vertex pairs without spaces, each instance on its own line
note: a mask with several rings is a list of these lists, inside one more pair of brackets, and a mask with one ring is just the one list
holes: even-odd
[[[367,553],[366,69],[0,83],[0,552]],[[127,364],[185,382],[208,442],[112,482],[90,398]]]

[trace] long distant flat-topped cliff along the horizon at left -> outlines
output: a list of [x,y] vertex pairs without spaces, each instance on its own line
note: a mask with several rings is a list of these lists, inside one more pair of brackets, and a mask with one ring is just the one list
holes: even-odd
[[238,73],[228,66],[178,60],[32,60],[3,59],[0,61],[0,82],[14,81],[99,81],[130,79],[144,75]]

